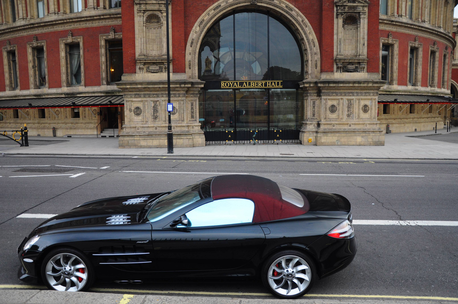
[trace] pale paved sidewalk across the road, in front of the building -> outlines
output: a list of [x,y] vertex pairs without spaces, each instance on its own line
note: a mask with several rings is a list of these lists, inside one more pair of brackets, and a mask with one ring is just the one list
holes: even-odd
[[[458,132],[439,130],[437,135],[457,138]],[[424,136],[431,135],[431,136]],[[409,137],[424,136],[424,137]],[[385,146],[302,146],[297,144],[209,145],[205,147],[174,148],[173,156],[213,157],[309,157],[309,158],[392,158],[392,159],[458,159],[458,144],[430,140],[434,130],[386,134]],[[36,137],[30,136],[30,147],[12,146],[2,141],[0,153],[8,155],[93,155],[93,156],[172,156],[167,148],[120,149],[118,138]],[[55,144],[34,145],[42,141]],[[38,142],[40,141],[40,142]],[[46,142],[44,142],[46,143]]]

